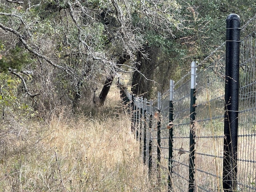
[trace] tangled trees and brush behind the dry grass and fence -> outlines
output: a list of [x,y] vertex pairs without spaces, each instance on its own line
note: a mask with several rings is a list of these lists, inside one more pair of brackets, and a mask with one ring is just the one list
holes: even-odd
[[[93,89],[104,105],[113,81],[137,95],[168,89],[225,40],[252,0],[0,0],[2,120],[84,112]],[[127,75],[128,74],[128,75]],[[130,79],[126,77],[130,76]]]

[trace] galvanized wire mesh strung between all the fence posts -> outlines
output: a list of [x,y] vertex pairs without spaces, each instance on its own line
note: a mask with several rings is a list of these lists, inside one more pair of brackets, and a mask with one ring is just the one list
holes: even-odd
[[[256,16],[241,28],[239,120],[238,120],[238,191],[256,191]],[[225,92],[225,43],[216,48],[203,61],[198,62],[196,86],[195,182],[196,191],[222,191],[224,149],[224,92]],[[190,74],[174,84],[174,127],[172,173],[168,173],[169,95],[162,95],[160,116],[157,102],[153,101],[152,112],[146,107],[147,156],[148,144],[152,141],[152,167],[164,174],[172,174],[172,188],[188,191],[189,136],[190,136]],[[152,114],[152,127],[149,116]],[[161,120],[161,161],[157,162],[158,120]],[[136,122],[136,126],[140,126]],[[147,158],[147,161],[149,159]],[[163,177],[165,178],[165,177]]]

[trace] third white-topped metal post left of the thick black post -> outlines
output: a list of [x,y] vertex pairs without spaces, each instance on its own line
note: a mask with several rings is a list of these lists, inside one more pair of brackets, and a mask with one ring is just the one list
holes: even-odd
[[161,92],[157,92],[157,168],[160,170],[161,161]]

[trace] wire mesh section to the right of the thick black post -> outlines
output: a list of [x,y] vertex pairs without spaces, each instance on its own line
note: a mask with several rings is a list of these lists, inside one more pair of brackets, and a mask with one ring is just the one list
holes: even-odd
[[[255,27],[255,17],[247,26]],[[255,28],[254,28],[255,29]],[[256,191],[256,33],[241,41],[238,124],[238,186]]]

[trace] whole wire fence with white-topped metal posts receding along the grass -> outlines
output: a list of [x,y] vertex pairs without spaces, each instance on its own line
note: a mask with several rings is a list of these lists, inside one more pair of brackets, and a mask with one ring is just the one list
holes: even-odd
[[[234,119],[238,120],[238,132],[230,141],[228,126],[234,120],[227,121],[227,113],[232,112],[232,103],[228,102],[234,94],[227,96],[225,86],[227,80],[235,81],[226,75],[229,58],[224,54],[224,44],[198,62],[197,74],[195,70],[190,73],[197,80],[188,79],[188,74],[176,83],[170,80],[169,92],[158,92],[157,100],[147,101],[127,92],[132,132],[141,143],[143,162],[149,174],[158,173],[158,180],[166,182],[169,191],[256,190],[255,18],[242,27],[240,64],[236,69],[240,72],[239,108]],[[198,84],[192,88],[195,82]],[[234,140],[238,141],[237,153],[228,156],[226,152],[233,149],[229,144]],[[233,178],[226,177],[230,172]]]

